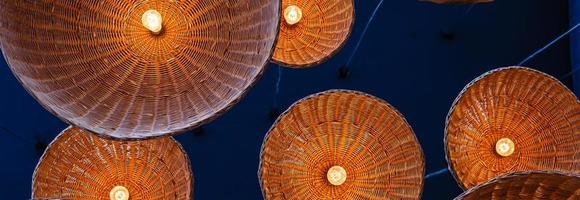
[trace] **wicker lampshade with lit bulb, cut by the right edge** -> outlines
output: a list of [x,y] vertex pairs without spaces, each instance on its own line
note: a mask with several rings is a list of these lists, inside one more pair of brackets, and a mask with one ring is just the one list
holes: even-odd
[[447,117],[449,167],[464,189],[515,171],[580,172],[580,103],[555,78],[523,67],[468,84]]

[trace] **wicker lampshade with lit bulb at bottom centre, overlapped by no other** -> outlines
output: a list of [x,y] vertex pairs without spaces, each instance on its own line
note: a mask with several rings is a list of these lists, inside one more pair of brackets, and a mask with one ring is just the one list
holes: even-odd
[[346,90],[291,106],[268,132],[260,158],[266,199],[419,199],[425,173],[403,116]]

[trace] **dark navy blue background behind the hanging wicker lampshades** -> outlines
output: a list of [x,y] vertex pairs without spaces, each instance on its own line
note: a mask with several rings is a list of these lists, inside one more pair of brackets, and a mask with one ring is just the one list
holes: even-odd
[[[347,67],[348,76],[341,78],[339,69],[379,2],[355,0],[352,36],[335,57],[310,69],[279,70],[270,64],[233,109],[195,131],[176,136],[191,160],[195,199],[262,199],[257,171],[264,135],[277,114],[293,102],[328,89],[359,90],[392,104],[417,134],[426,172],[446,168],[445,116],[461,89],[486,71],[518,64],[565,32],[570,8],[580,11],[578,1],[496,0],[447,6],[387,0]],[[580,18],[574,19],[580,22]],[[580,38],[580,31],[573,34]],[[526,66],[560,78],[572,88],[572,78],[563,76],[571,72],[570,49],[574,46],[565,37]],[[28,199],[32,173],[44,147],[67,125],[26,93],[3,59],[0,89],[1,199]],[[425,181],[423,199],[451,199],[461,192],[445,173]]]

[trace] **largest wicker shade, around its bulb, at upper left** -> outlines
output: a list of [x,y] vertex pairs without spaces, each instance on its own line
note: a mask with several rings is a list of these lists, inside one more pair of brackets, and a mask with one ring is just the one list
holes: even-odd
[[[48,110],[97,134],[183,132],[239,100],[269,62],[272,0],[2,0],[0,43]],[[145,28],[149,9],[163,18]]]

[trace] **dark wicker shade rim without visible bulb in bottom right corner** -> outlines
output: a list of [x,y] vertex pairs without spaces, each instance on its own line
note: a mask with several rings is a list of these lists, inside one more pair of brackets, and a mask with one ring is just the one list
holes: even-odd
[[456,200],[479,199],[580,199],[580,175],[530,171],[505,175],[472,188]]

